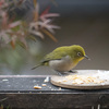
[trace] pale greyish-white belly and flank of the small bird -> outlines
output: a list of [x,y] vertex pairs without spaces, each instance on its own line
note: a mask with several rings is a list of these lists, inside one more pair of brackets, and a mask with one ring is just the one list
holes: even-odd
[[49,66],[56,71],[66,72],[66,71],[72,70],[74,68],[74,64],[72,62],[72,59],[69,56],[66,56],[62,58],[61,60],[49,61]]

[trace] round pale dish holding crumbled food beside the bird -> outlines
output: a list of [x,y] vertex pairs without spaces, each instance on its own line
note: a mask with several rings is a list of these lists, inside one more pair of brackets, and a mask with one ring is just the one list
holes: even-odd
[[[109,71],[104,71],[104,70],[76,70],[76,71],[77,73],[70,73],[69,75],[64,76],[53,75],[51,76],[51,83],[60,87],[76,88],[76,89],[109,88]],[[73,80],[72,77],[74,76],[77,76],[77,78]],[[78,80],[78,77],[81,77],[81,81]],[[87,78],[89,78],[89,82],[87,82]]]

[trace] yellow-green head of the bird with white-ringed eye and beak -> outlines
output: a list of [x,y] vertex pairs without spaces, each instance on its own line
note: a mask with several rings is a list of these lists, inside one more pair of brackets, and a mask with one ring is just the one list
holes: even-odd
[[73,45],[73,46],[71,46],[71,48],[72,48],[73,61],[78,62],[78,61],[83,60],[84,58],[89,60],[89,58],[85,55],[85,50],[83,47],[81,47],[78,45]]

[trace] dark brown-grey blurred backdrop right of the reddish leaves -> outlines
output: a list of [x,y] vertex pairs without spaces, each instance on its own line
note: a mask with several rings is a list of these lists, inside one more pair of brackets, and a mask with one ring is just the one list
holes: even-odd
[[[75,69],[109,70],[109,1],[108,0],[56,0],[51,12],[60,13],[56,37],[44,41],[46,52],[59,46],[81,45],[90,61],[83,60]],[[40,69],[40,68],[39,68]],[[39,70],[38,69],[38,70]],[[37,71],[37,70],[36,70]]]

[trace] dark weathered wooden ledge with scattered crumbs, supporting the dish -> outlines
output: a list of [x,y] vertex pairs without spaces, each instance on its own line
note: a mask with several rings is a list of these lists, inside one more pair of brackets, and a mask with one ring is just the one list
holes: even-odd
[[[12,109],[92,109],[99,105],[101,109],[109,109],[109,89],[61,88],[45,83],[47,76],[0,75],[0,104]],[[41,88],[35,89],[35,85]]]

